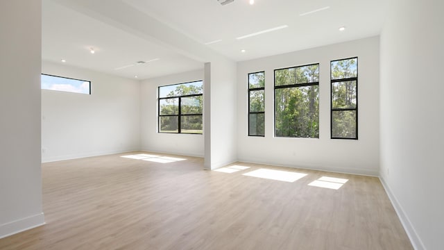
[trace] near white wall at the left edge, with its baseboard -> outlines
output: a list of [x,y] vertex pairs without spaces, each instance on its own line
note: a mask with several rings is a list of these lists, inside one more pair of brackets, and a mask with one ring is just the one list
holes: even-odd
[[0,1],[0,238],[44,224],[41,6],[37,0]]

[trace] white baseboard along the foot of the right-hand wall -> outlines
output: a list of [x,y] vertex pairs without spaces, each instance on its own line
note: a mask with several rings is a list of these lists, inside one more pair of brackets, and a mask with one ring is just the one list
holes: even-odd
[[395,208],[396,214],[400,218],[401,224],[402,226],[404,226],[404,230],[407,233],[407,236],[409,236],[413,248],[416,250],[425,250],[424,244],[422,244],[422,241],[419,238],[418,233],[416,233],[415,228],[413,228],[413,225],[411,224],[409,217],[407,217],[406,213],[404,213],[404,210],[402,209],[401,204],[398,202],[398,199],[396,199],[395,195],[393,195],[390,188],[388,188],[388,185],[384,181],[384,178],[379,177],[379,180],[381,181],[384,190],[386,190],[388,199],[390,199],[393,208]]

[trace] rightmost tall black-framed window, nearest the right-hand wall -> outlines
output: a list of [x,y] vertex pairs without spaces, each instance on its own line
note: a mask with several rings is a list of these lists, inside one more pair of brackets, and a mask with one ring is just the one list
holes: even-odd
[[331,138],[358,139],[358,58],[330,62]]

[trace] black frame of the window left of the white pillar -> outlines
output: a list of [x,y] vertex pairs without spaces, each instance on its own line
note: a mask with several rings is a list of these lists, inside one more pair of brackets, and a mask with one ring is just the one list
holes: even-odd
[[[182,84],[187,84],[187,83],[198,83],[198,82],[202,82],[202,86],[203,86],[203,80],[198,80],[198,81],[190,81],[190,82],[185,82],[185,83],[174,83],[174,84],[169,84],[169,85],[162,85],[162,86],[157,86],[157,133],[167,133],[167,134],[186,134],[186,135],[203,135],[203,113],[196,113],[196,114],[182,114],[182,98],[187,98],[187,97],[202,97],[202,102],[203,102],[203,93],[201,94],[185,94],[182,96],[174,96],[174,97],[160,97],[160,88],[162,87],[168,87],[168,86],[173,86],[173,85],[182,85]],[[203,90],[202,90],[203,92]],[[166,100],[166,99],[178,99],[178,113],[177,115],[161,115],[160,114],[160,101],[161,100]],[[203,112],[203,106],[202,106],[202,112]],[[182,132],[182,128],[181,128],[181,117],[182,116],[200,116],[202,117],[202,133],[183,133]],[[161,117],[178,117],[178,132],[174,133],[174,132],[162,132],[160,131],[160,119]]]

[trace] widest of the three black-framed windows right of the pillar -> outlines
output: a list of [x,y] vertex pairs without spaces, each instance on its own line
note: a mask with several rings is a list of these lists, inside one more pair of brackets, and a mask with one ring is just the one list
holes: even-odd
[[319,64],[274,73],[275,137],[319,138]]

